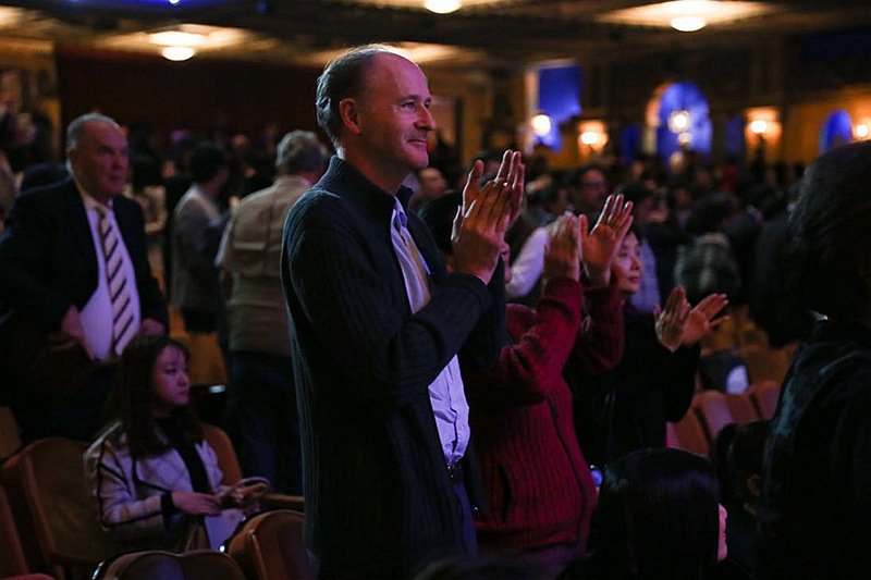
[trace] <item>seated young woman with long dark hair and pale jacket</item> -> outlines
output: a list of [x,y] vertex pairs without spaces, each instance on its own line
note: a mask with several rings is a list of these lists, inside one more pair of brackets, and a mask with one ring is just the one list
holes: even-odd
[[189,405],[187,358],[162,335],[137,336],[121,356],[113,421],[85,453],[110,554],[217,548],[243,518]]

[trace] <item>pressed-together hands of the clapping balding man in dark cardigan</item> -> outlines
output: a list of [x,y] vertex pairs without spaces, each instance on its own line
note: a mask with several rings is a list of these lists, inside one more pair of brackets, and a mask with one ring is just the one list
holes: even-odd
[[456,271],[490,283],[505,246],[505,231],[519,213],[524,169],[520,153],[506,151],[496,178],[479,187],[483,163],[476,161],[454,218],[451,244]]

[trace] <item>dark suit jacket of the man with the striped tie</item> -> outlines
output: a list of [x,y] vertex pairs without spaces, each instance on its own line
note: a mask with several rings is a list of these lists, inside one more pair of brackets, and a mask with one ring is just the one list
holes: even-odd
[[[142,318],[168,324],[167,305],[151,276],[145,219],[135,201],[112,202],[121,237],[136,272]],[[19,197],[0,235],[0,303],[44,331],[54,331],[97,289],[97,252],[85,205],[72,178]],[[8,329],[0,326],[0,336]]]

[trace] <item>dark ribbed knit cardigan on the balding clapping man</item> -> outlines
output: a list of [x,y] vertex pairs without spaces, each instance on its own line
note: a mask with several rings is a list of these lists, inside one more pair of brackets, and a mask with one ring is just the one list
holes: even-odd
[[[403,205],[409,196],[398,194]],[[334,157],[284,229],[305,535],[321,578],[404,578],[463,553],[428,387],[458,351],[463,365],[486,367],[506,340],[502,266],[489,288],[449,275],[426,225],[408,213],[432,282],[431,301],[412,314],[390,238],[394,203]],[[470,445],[466,488],[480,506],[471,455]]]

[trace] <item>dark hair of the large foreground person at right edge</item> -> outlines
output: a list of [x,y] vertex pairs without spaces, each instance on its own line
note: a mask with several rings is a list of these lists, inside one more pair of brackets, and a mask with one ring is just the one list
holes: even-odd
[[805,308],[855,319],[871,306],[871,141],[837,147],[801,180],[790,217],[792,286]]

